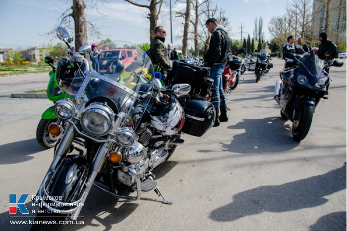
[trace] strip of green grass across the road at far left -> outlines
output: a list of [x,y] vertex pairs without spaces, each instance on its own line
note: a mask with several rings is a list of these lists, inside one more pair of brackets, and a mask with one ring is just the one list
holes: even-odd
[[45,63],[18,66],[3,65],[0,66],[0,76],[43,73],[51,70],[52,68]]

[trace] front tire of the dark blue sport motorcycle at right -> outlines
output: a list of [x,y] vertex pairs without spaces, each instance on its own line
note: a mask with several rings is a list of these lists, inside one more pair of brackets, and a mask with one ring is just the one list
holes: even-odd
[[313,112],[314,105],[304,103],[300,107],[297,119],[293,121],[293,127],[291,129],[294,140],[301,141],[307,136],[311,127]]

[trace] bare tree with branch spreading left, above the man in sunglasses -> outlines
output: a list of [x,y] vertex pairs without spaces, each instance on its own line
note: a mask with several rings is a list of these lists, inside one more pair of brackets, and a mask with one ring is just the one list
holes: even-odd
[[124,1],[127,1],[139,7],[144,7],[149,9],[147,18],[149,19],[149,22],[150,22],[149,31],[150,31],[150,40],[152,41],[155,37],[154,29],[157,27],[157,21],[160,14],[160,10],[162,8],[163,0],[149,0],[150,1],[149,5],[139,4],[131,0],[124,0]]

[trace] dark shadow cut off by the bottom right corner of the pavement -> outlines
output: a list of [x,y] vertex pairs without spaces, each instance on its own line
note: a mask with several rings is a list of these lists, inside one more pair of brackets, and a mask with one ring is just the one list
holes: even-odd
[[321,217],[316,224],[310,226],[310,231],[318,230],[346,230],[346,211]]

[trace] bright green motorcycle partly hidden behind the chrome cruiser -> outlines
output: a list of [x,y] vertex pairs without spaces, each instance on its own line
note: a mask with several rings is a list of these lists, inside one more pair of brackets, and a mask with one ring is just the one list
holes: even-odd
[[[50,80],[47,87],[47,97],[49,100],[55,103],[59,99],[64,98],[66,93],[62,92],[58,87],[54,59],[50,56],[46,56],[45,63],[52,67],[52,71],[49,73]],[[45,148],[54,147],[58,141],[58,137],[50,134],[48,131],[48,127],[51,123],[60,123],[57,116],[54,114],[54,106],[49,107],[46,109],[46,111],[44,111],[44,113],[42,113],[41,120],[36,129],[36,140]]]

